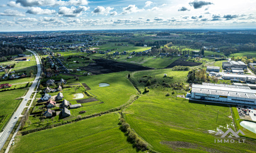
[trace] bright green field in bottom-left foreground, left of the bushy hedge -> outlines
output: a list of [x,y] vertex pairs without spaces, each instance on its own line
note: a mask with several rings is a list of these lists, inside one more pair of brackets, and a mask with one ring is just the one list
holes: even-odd
[[126,149],[128,152],[135,151],[118,129],[118,118],[118,113],[110,113],[18,136],[11,152],[116,152],[122,149],[124,152]]

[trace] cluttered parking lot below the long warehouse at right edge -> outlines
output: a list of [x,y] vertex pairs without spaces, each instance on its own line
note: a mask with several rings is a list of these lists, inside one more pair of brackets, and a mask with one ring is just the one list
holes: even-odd
[[256,106],[238,105],[237,110],[241,119],[256,121]]

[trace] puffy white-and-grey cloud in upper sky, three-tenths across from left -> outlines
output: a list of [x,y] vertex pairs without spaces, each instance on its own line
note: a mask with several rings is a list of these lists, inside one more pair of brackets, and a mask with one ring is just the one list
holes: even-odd
[[62,16],[67,16],[67,17],[77,17],[81,15],[83,11],[87,11],[89,9],[90,9],[89,7],[85,7],[85,6],[79,6],[77,8],[76,7],[71,7],[71,8],[60,7],[58,14]]

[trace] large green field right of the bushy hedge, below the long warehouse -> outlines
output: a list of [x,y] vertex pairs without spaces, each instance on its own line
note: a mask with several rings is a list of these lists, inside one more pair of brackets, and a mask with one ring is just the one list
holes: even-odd
[[[215,143],[208,130],[234,129],[228,106],[193,103],[150,90],[137,99],[125,113],[125,120],[139,136],[160,152],[253,152],[255,141]],[[217,114],[218,121],[217,121]]]

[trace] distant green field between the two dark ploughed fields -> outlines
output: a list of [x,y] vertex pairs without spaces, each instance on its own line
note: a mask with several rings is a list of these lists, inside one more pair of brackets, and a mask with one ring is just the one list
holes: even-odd
[[179,59],[178,57],[171,58],[171,57],[154,57],[154,56],[133,56],[132,58],[127,59],[130,55],[121,55],[118,58],[118,61],[122,62],[130,62],[135,64],[140,64],[142,66],[153,67],[153,68],[164,68],[174,61]]

